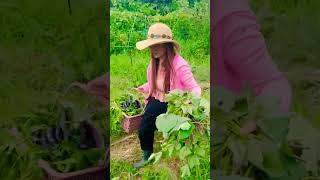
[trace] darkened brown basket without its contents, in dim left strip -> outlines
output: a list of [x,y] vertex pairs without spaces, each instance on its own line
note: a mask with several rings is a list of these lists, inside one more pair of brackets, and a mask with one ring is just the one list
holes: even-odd
[[[103,140],[101,136],[99,136],[97,128],[92,125],[89,130],[91,136],[95,139],[96,147],[101,148]],[[45,179],[47,180],[101,180],[107,179],[107,169],[109,164],[108,161],[109,150],[106,150],[105,159],[101,164],[97,165],[96,167],[89,167],[74,172],[58,172],[53,169],[47,161],[43,159],[40,159],[38,161],[38,165],[44,170]]]

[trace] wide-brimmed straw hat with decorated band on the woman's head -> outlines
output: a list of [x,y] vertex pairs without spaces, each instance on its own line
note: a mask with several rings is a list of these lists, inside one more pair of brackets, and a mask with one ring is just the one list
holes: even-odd
[[180,45],[178,42],[173,40],[172,31],[166,24],[163,23],[155,23],[150,26],[147,39],[143,41],[139,41],[136,43],[136,47],[139,50],[143,50],[149,46],[155,44],[162,44],[162,43],[173,43],[176,50],[179,51]]

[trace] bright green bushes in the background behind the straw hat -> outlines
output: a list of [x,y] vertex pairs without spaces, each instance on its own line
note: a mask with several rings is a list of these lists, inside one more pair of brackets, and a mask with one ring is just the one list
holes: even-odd
[[[134,2],[127,2],[132,4]],[[179,3],[180,1],[177,1]],[[204,55],[210,53],[210,20],[208,1],[202,1],[195,4],[194,8],[177,8],[175,10],[165,10],[167,7],[161,7],[160,11],[168,11],[161,14],[154,10],[150,4],[139,6],[136,10],[125,11],[121,8],[111,9],[110,16],[110,53],[111,54],[146,54],[135,50],[135,43],[145,39],[148,27],[155,22],[168,24],[174,32],[175,39],[179,41],[182,47],[182,55],[203,59]],[[175,3],[173,3],[175,4]],[[131,7],[131,6],[130,6]],[[171,7],[169,6],[169,9]],[[155,13],[145,13],[143,9],[154,10]],[[198,28],[202,26],[203,28]],[[199,34],[204,36],[198,38]],[[190,43],[192,42],[192,43]],[[201,57],[199,57],[201,56]]]

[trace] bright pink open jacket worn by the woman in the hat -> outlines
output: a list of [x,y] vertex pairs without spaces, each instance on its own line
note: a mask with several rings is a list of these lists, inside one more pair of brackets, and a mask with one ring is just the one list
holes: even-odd
[[[171,75],[170,91],[180,89],[183,91],[195,92],[201,95],[201,88],[194,79],[188,62],[177,54],[173,59],[172,66],[175,73],[174,75]],[[150,87],[152,86],[151,75],[151,63],[149,63],[147,69],[147,83],[139,87],[142,88],[145,93],[150,93]],[[145,99],[145,102],[147,102],[147,98]]]

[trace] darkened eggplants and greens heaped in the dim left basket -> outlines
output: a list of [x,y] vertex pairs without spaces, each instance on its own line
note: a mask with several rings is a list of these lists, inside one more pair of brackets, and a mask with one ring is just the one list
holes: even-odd
[[[56,126],[33,125],[30,138],[33,146],[37,144],[42,158],[59,172],[72,172],[97,166],[104,157],[105,149],[98,128],[89,120],[76,120],[61,109]],[[101,141],[101,142],[100,142]],[[97,147],[100,146],[100,147]]]

